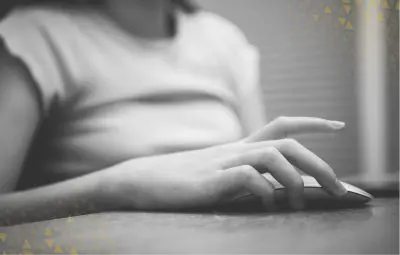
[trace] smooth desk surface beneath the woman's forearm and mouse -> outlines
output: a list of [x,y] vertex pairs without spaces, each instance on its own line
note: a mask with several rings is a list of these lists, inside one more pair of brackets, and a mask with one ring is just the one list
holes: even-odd
[[4,251],[398,254],[399,200],[375,199],[365,208],[297,213],[86,215],[0,228],[0,254]]

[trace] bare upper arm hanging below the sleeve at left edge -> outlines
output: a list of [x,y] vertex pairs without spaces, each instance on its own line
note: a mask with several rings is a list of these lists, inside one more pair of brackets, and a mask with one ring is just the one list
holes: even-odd
[[0,48],[0,191],[15,188],[40,111],[24,66]]

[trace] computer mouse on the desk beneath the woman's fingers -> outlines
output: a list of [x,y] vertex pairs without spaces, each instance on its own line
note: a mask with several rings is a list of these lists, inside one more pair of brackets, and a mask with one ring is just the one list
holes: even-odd
[[[263,174],[263,176],[275,187],[275,203],[277,207],[290,209],[287,203],[285,187],[270,174]],[[306,210],[359,207],[373,199],[373,196],[368,192],[343,181],[341,183],[347,189],[347,193],[338,198],[327,193],[314,177],[303,175],[302,179],[304,182],[304,204]],[[259,197],[246,192],[225,203],[222,207],[225,209],[261,208],[262,203]]]

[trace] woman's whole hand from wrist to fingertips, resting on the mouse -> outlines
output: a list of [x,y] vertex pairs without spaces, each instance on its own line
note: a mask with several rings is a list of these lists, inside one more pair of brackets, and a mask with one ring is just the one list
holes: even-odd
[[[292,208],[303,207],[301,169],[334,196],[346,189],[331,167],[291,134],[332,132],[344,123],[318,118],[281,117],[239,142],[207,149],[127,161],[110,169],[115,201],[132,209],[170,210],[213,206],[245,191],[274,208],[269,172],[288,191]],[[115,170],[115,171],[113,171]]]

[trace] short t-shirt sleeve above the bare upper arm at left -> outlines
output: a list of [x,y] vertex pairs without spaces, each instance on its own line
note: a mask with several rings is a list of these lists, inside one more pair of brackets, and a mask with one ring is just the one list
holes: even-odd
[[63,91],[60,64],[44,27],[28,11],[15,10],[0,22],[0,37],[35,80],[43,115]]

